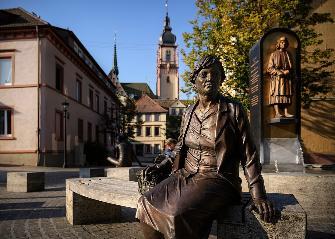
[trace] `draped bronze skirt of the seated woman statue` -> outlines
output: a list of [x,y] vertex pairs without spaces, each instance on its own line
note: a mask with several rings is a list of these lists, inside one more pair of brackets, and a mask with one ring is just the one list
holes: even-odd
[[136,220],[168,238],[208,238],[215,213],[241,196],[224,178],[199,174],[171,175],[159,183],[139,199]]

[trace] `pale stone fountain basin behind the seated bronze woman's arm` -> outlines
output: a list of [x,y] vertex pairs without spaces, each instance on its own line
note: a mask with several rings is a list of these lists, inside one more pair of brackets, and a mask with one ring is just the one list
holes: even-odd
[[[264,172],[273,165],[262,165],[267,193],[293,194],[307,214],[308,221],[335,222],[335,174],[332,170],[307,169],[303,172]],[[279,165],[278,165],[278,168]],[[275,170],[275,169],[273,169]],[[308,172],[312,171],[312,172]],[[243,170],[240,170],[242,190],[248,192]]]

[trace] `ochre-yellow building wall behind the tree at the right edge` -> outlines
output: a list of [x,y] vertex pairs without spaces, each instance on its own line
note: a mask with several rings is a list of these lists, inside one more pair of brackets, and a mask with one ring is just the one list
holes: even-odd
[[[313,2],[314,9],[311,13],[331,13],[335,19],[335,4],[332,0],[317,0]],[[309,47],[307,50],[315,48],[326,49],[335,48],[335,23],[323,23],[315,26],[317,33],[323,34],[320,38],[323,43],[316,47]],[[335,53],[329,59],[335,59]],[[303,65],[303,67],[315,66],[313,63]],[[334,71],[335,66],[328,68]],[[329,79],[329,86],[333,88],[327,97],[335,97],[335,74]],[[324,97],[324,96],[316,96]],[[335,152],[335,101],[314,101],[310,109],[301,110],[301,139],[302,147],[305,153],[324,153]]]

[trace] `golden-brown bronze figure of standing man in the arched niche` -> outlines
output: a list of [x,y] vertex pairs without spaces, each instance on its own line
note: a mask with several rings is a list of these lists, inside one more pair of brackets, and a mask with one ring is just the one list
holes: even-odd
[[[269,105],[275,109],[276,116],[294,117],[287,112],[287,107],[292,105],[292,96],[294,95],[294,83],[298,77],[294,70],[292,55],[286,50],[288,47],[288,38],[283,36],[277,40],[276,50],[272,52],[267,72],[271,75]],[[279,111],[283,108],[284,115]]]

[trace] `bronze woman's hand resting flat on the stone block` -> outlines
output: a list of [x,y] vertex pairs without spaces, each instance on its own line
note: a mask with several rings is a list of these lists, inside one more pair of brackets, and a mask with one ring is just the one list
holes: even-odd
[[277,213],[276,207],[264,198],[255,198],[249,207],[249,212],[256,208],[258,208],[261,220],[265,222],[271,222]]

